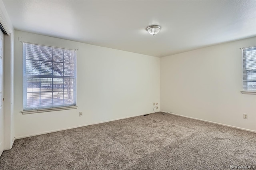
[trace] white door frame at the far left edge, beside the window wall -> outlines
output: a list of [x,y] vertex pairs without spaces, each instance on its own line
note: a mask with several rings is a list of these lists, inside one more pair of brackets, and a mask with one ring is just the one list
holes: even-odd
[[[13,85],[14,85],[14,28],[0,0],[0,24],[7,35],[4,35],[4,150],[12,148],[14,143],[14,108],[13,108]],[[8,87],[8,88],[7,88]]]

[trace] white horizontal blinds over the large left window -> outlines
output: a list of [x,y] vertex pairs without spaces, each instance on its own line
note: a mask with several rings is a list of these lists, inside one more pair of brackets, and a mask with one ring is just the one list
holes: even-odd
[[24,110],[76,105],[76,51],[23,45]]

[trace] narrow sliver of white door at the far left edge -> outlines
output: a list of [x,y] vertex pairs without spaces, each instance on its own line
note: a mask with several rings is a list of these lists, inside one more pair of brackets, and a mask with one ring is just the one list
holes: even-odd
[[0,31],[0,156],[4,151],[4,109],[3,109],[3,57],[4,57],[4,34]]

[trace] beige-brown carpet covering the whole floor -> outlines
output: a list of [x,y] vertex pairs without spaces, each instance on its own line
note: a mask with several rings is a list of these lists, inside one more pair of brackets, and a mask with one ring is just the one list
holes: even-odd
[[230,165],[256,169],[255,133],[162,113],[18,139],[0,157],[1,170],[228,170]]

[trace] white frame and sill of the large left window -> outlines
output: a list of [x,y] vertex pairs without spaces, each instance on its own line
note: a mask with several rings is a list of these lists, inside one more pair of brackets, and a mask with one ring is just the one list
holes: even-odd
[[[64,81],[65,77],[71,77],[71,79],[73,80],[73,85],[72,85],[73,86],[73,97],[72,97],[73,104],[67,104],[67,105],[65,105],[65,104],[61,105],[60,104],[60,105],[56,105],[56,106],[52,105],[51,107],[30,107],[30,108],[25,108],[25,105],[27,105],[27,104],[24,104],[24,102],[27,102],[27,99],[26,99],[26,101],[24,99],[27,96],[27,92],[28,91],[27,91],[27,88],[25,89],[25,87],[24,87],[25,86],[25,82],[24,81],[26,81],[26,78],[29,77],[29,75],[26,75],[26,73],[24,73],[24,71],[26,71],[25,70],[26,69],[26,55],[24,53],[24,51],[25,51],[25,49],[24,49],[25,48],[25,44],[38,45],[38,46],[42,46],[42,47],[50,47],[52,49],[55,48],[55,49],[58,49],[58,50],[63,50],[63,52],[64,52],[64,50],[75,51],[74,52],[74,76],[66,76],[66,75],[64,75],[64,72],[60,76],[55,76],[53,74],[52,75],[48,75],[48,78],[52,78],[53,79],[53,78],[58,77],[58,79],[63,79],[63,81]],[[76,79],[77,79],[77,76],[76,76],[76,65],[77,65],[77,63],[76,63],[76,51],[78,49],[68,49],[68,48],[63,48],[63,47],[55,47],[55,46],[51,46],[51,45],[42,45],[42,44],[37,44],[37,43],[23,42],[22,50],[23,50],[23,56],[22,56],[22,59],[23,59],[23,62],[22,62],[22,64],[23,64],[23,73],[22,73],[22,80],[23,80],[23,83],[22,83],[22,85],[23,85],[22,86],[22,88],[23,88],[22,89],[22,91],[23,91],[23,96],[22,96],[22,99],[23,99],[23,102],[22,102],[23,103],[23,111],[21,111],[21,113],[22,114],[30,114],[30,113],[41,113],[41,112],[49,112],[49,111],[60,111],[60,110],[76,109],[77,108],[77,105],[76,105]],[[53,55],[53,53],[52,53],[52,55]],[[39,59],[40,65],[41,65],[41,62],[42,62],[41,59]],[[53,63],[54,62],[53,58],[52,58],[52,60],[49,60],[49,62]],[[63,61],[63,64],[64,63],[65,62]],[[51,70],[53,70],[53,67],[51,68]],[[47,77],[47,75],[41,75],[39,73],[38,76],[37,75],[36,76],[32,75],[31,77],[43,78],[43,77]],[[64,91],[63,91],[63,93],[64,93]],[[39,93],[41,94],[41,91],[39,91]],[[54,98],[51,98],[51,100],[53,100],[53,99]],[[63,98],[63,100],[64,100],[64,98]]]

